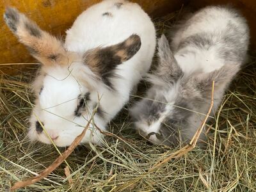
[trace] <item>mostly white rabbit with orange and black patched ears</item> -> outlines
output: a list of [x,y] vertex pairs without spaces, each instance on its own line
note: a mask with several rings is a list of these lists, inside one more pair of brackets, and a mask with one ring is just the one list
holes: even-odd
[[81,143],[102,144],[102,131],[152,63],[156,30],[147,13],[129,1],[102,1],[77,17],[65,42],[15,8],[6,8],[4,20],[42,63],[33,83],[29,139],[66,147],[97,109]]

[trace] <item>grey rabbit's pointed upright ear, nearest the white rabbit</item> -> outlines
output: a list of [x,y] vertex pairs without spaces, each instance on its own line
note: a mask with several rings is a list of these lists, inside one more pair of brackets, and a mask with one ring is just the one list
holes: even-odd
[[158,56],[159,67],[156,70],[158,76],[165,76],[170,81],[175,81],[182,76],[183,72],[175,60],[169,42],[164,35],[158,40]]

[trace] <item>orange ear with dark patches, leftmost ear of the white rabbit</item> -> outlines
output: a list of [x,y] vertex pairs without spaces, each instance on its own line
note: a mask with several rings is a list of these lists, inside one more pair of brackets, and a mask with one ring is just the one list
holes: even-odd
[[66,51],[60,40],[42,31],[35,22],[15,8],[6,8],[4,20],[19,41],[44,65],[67,62]]

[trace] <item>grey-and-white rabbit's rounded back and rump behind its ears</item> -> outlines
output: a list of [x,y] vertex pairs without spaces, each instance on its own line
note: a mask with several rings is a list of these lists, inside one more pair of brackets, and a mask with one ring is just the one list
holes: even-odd
[[248,33],[246,20],[237,10],[210,6],[180,24],[172,49],[184,72],[211,72],[227,63],[243,63]]

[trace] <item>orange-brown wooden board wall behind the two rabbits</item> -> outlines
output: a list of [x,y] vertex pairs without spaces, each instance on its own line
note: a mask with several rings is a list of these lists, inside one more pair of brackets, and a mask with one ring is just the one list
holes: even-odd
[[[40,28],[53,35],[65,37],[65,30],[72,26],[77,15],[100,0],[0,0],[0,74],[13,74],[27,70],[28,65],[6,63],[35,63],[34,60],[7,28],[3,21],[6,6],[14,6],[35,20]],[[150,16],[156,17],[179,10],[182,4],[198,9],[209,4],[234,4],[248,20],[251,29],[251,49],[256,48],[255,0],[132,0],[142,6]]]

